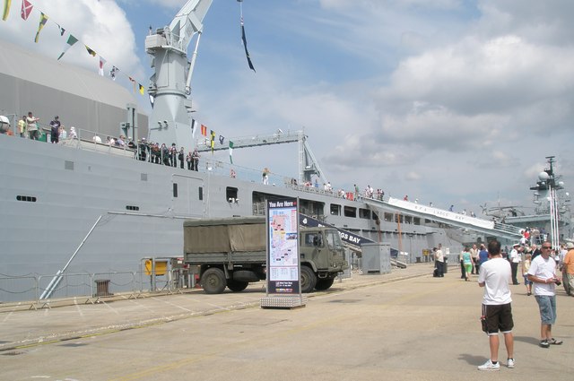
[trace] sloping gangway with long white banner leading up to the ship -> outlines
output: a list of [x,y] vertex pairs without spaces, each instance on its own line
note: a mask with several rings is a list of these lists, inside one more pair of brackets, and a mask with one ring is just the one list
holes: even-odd
[[450,212],[433,206],[412,203],[389,197],[388,201],[363,198],[362,201],[373,208],[385,208],[404,214],[421,217],[427,220],[446,223],[459,228],[471,229],[490,237],[506,238],[509,240],[522,238],[520,228],[496,221],[471,217],[457,212]]

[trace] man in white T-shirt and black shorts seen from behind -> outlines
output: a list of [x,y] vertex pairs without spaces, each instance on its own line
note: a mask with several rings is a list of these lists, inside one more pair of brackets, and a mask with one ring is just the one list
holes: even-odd
[[514,336],[512,328],[512,299],[510,297],[509,261],[500,254],[500,242],[496,239],[488,243],[489,260],[481,265],[478,285],[484,288],[483,316],[486,318],[486,333],[491,347],[491,358],[478,370],[500,370],[499,330],[504,335],[507,351],[507,367],[514,368]]

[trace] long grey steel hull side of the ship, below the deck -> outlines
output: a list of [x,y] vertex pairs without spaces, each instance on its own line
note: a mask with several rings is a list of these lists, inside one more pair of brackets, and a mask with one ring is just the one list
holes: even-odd
[[[0,135],[0,273],[54,274],[76,250],[67,273],[138,271],[145,257],[182,255],[186,219],[261,214],[257,203],[275,195],[300,197],[304,212],[418,256],[441,236],[422,224],[403,224],[398,234],[382,212],[379,229],[368,205],[317,189],[268,186],[200,168]],[[329,212],[333,205],[355,215]]]

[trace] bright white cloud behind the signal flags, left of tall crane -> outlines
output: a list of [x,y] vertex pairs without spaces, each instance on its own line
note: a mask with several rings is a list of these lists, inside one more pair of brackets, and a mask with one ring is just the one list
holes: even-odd
[[[65,48],[68,33],[79,41],[62,60],[97,71],[98,59],[89,56],[83,44],[103,56],[109,67],[116,65],[124,73],[144,81],[144,71],[135,54],[135,36],[126,13],[111,0],[36,0],[27,21],[20,17],[20,3],[13,2],[10,17],[0,22],[2,38],[24,48],[57,58]],[[48,22],[33,42],[38,30],[39,14],[48,15]],[[61,36],[57,25],[65,28]]]

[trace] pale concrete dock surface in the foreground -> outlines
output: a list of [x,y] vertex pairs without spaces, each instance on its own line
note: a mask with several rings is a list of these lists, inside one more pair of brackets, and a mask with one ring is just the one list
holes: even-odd
[[1,309],[0,380],[570,380],[574,298],[558,290],[553,333],[523,284],[513,291],[516,368],[480,372],[489,357],[480,330],[483,289],[455,266],[431,264],[335,281],[306,307],[259,307],[264,283],[206,295],[190,290],[97,304]]

